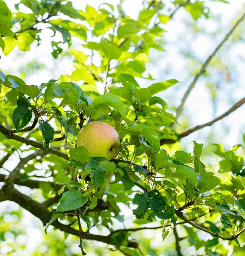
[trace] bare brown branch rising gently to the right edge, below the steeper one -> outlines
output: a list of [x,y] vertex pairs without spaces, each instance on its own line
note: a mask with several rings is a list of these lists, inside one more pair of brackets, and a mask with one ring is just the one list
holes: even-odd
[[190,133],[194,132],[194,131],[197,131],[197,130],[200,130],[206,126],[211,126],[213,125],[214,123],[216,123],[217,121],[223,119],[224,117],[228,116],[229,114],[231,114],[232,112],[234,112],[236,109],[240,108],[240,106],[242,106],[243,104],[245,103],[245,97],[242,98],[241,100],[239,100],[238,102],[236,102],[229,110],[227,110],[224,114],[216,117],[215,119],[213,119],[212,121],[210,122],[207,122],[205,124],[202,124],[202,125],[197,125],[191,129],[188,129],[184,132],[182,132],[181,134],[179,134],[179,137],[180,138],[183,138],[183,137],[186,137],[188,136]]

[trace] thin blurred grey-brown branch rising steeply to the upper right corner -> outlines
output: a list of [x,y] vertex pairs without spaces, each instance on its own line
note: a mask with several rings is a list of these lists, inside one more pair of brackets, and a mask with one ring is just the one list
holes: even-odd
[[205,72],[207,65],[210,63],[210,61],[213,59],[213,57],[215,56],[215,54],[219,51],[219,49],[221,48],[221,46],[229,39],[230,35],[233,33],[233,31],[235,30],[235,28],[242,22],[242,20],[245,17],[245,13],[242,15],[242,17],[237,20],[236,24],[231,28],[231,30],[226,34],[225,38],[219,43],[219,45],[215,48],[214,52],[207,58],[207,60],[203,63],[200,71],[196,74],[196,76],[194,77],[192,83],[189,85],[187,91],[185,92],[181,104],[177,107],[176,110],[176,116],[175,119],[178,120],[179,116],[181,115],[183,108],[184,108],[184,104],[188,98],[188,96],[190,95],[191,90],[194,88],[194,86],[196,85],[199,77]]

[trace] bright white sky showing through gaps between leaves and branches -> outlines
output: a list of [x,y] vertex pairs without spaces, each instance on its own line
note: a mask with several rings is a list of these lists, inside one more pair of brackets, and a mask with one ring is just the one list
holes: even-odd
[[[14,4],[18,3],[16,0],[8,0],[6,1],[9,6],[11,6],[12,11],[14,10]],[[103,3],[112,3],[117,4],[116,0],[73,0],[72,3],[75,8],[84,10],[87,4],[92,5],[95,8]],[[167,2],[167,1],[166,1]],[[170,2],[167,2],[170,8],[173,8]],[[214,48],[217,44],[222,40],[224,35],[229,31],[231,24],[234,23],[234,20],[237,19],[241,15],[241,9],[243,5],[245,5],[244,0],[232,0],[231,4],[223,4],[218,1],[206,0],[205,4],[208,8],[210,8],[211,12],[220,17],[221,23],[217,23],[215,19],[206,21],[204,18],[198,20],[198,25],[203,26],[204,31],[206,33],[214,32],[217,29],[218,24],[222,24],[222,33],[217,35],[217,38],[210,37],[206,34],[200,34],[196,37],[193,34],[188,33],[188,28],[186,29],[186,24],[191,25],[193,23],[190,15],[184,10],[180,9],[175,14],[173,20],[171,20],[166,27],[165,30],[168,32],[164,35],[164,40],[171,42],[169,46],[165,49],[166,51],[163,53],[152,52],[150,55],[150,62],[152,61],[154,65],[147,65],[147,71],[153,75],[158,81],[165,81],[171,78],[175,78],[181,82],[181,84],[177,85],[177,87],[170,88],[159,96],[162,98],[172,97],[171,95],[175,95],[173,102],[175,104],[179,104],[181,98],[188,87],[189,83],[193,79],[193,76],[186,73],[186,65],[187,60],[183,58],[183,55],[180,54],[179,48],[191,47],[195,57],[199,61],[205,61],[206,58],[213,52]],[[125,0],[123,2],[123,8],[127,15],[132,18],[137,18],[139,11],[142,8],[142,1],[140,0]],[[27,9],[24,6],[20,6],[23,11]],[[186,31],[186,34],[185,34]],[[58,79],[61,74],[71,73],[73,69],[73,63],[69,58],[58,58],[57,60],[53,59],[50,52],[52,51],[50,46],[50,36],[52,33],[50,31],[45,31],[42,33],[42,44],[39,47],[35,47],[33,44],[31,46],[31,51],[29,52],[20,52],[17,48],[14,49],[12,53],[8,56],[2,56],[0,60],[0,68],[5,71],[5,73],[11,73],[13,75],[19,75],[19,68],[25,68],[28,62],[32,60],[38,60],[38,62],[43,63],[46,66],[45,70],[41,70],[38,72],[33,72],[29,77],[25,79],[27,84],[40,85],[42,82],[47,82],[49,79]],[[183,36],[187,39],[190,39],[188,45],[182,44],[179,41],[179,37]],[[184,42],[184,41],[183,41]],[[76,44],[75,44],[76,45]],[[50,51],[47,51],[50,49]],[[216,116],[224,113],[230,106],[238,101],[240,98],[244,97],[245,92],[245,51],[244,51],[244,42],[239,44],[233,44],[232,47],[229,46],[229,42],[223,46],[221,49],[221,53],[224,54],[224,62],[229,61],[232,63],[234,70],[234,77],[229,84],[226,85],[225,91],[221,90],[218,96],[217,109],[215,111]],[[155,56],[158,56],[157,63],[155,63]],[[244,59],[243,59],[244,58]],[[157,67],[156,68],[156,65]],[[191,64],[191,63],[190,63]],[[172,69],[166,73],[165,70],[168,67],[172,67]],[[233,74],[232,73],[232,74]],[[146,87],[149,84],[149,81],[141,81],[141,86]],[[196,84],[195,88],[191,92],[190,97],[186,102],[185,113],[190,117],[191,125],[198,125],[205,123],[211,120],[214,116],[212,100],[210,97],[210,93],[207,90],[205,79],[200,79]],[[227,96],[227,92],[229,95]],[[224,137],[224,132],[220,132],[217,134],[215,138],[217,143],[223,143],[227,147],[231,147],[234,144],[241,142],[241,132],[245,130],[245,118],[244,118],[245,108],[244,106],[234,113],[232,113],[229,117],[222,120],[221,122],[215,124],[215,129],[222,130],[228,129],[226,136]],[[181,119],[180,119],[181,120]],[[205,138],[208,136],[210,131],[214,129],[205,128],[199,132],[192,133],[188,138],[184,138],[181,144],[187,148],[189,152],[192,151],[193,144],[191,143],[193,140],[197,140],[198,142],[205,142]],[[30,194],[31,190],[27,188],[21,188],[23,192]],[[18,207],[15,203],[11,202],[3,202],[1,203],[0,212],[6,211],[8,209],[13,209]],[[124,207],[125,208],[125,207]],[[124,209],[126,218],[130,219],[130,221],[126,222],[126,226],[130,226],[131,222],[131,211],[128,209]],[[8,221],[8,219],[7,219]],[[34,218],[30,213],[25,211],[25,217],[21,220],[21,225],[28,226],[27,229],[27,237],[25,238],[29,241],[26,247],[26,255],[30,254],[32,250],[37,246],[37,244],[42,243],[43,239],[43,230],[40,230],[40,225],[33,225],[33,223],[37,222],[37,219]],[[120,227],[119,224],[118,228]],[[157,233],[147,231],[146,236],[151,236],[153,238],[152,246],[157,246]],[[11,239],[11,238],[10,238]],[[169,237],[168,239],[171,239]],[[168,241],[166,240],[166,243]],[[20,240],[21,242],[21,240]],[[155,243],[155,244],[154,244]],[[74,247],[74,250],[77,248]],[[0,249],[0,253],[4,254],[4,246]],[[74,251],[75,253],[75,251]],[[88,256],[92,256],[89,253]]]

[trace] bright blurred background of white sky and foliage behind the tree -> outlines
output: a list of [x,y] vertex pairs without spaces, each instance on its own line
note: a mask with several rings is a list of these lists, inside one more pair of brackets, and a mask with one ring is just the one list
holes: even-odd
[[[22,2],[22,1],[21,1]],[[32,11],[35,12],[35,1],[29,1]],[[47,1],[53,2],[53,1]],[[92,72],[88,72],[84,68],[85,60],[88,58],[90,51],[89,47],[81,45],[81,39],[85,40],[85,34],[87,31],[87,37],[89,40],[98,40],[97,37],[106,33],[113,27],[111,22],[110,12],[112,7],[103,6],[105,8],[99,17],[99,21],[96,25],[93,24],[93,12],[97,12],[101,1],[70,1],[76,10],[82,10],[76,13],[77,19],[83,20],[82,15],[86,18],[89,25],[89,29],[83,27],[78,28],[76,25],[71,30],[70,34],[73,37],[72,46],[68,48],[70,41],[64,40],[62,34],[55,33],[60,31],[59,20],[56,19],[52,23],[52,29],[42,31],[40,38],[36,37],[37,31],[32,31],[33,37],[24,37],[24,32],[19,35],[18,41],[9,38],[9,42],[5,40],[4,54],[1,55],[0,68],[4,73],[13,74],[21,79],[24,79],[27,84],[40,84],[45,80],[48,82],[50,79],[59,79],[61,81],[80,81],[83,76],[83,80],[87,85],[83,85],[83,89],[98,90],[103,93],[103,86],[98,85],[95,82],[95,76],[92,76]],[[184,7],[179,8],[174,13],[172,19],[168,21],[168,15],[173,13],[176,7],[183,1],[163,1],[161,6],[161,15],[159,20],[162,25],[162,31],[166,31],[154,42],[154,47],[149,50],[149,58],[146,55],[140,55],[139,61],[143,61],[146,64],[146,71],[144,77],[155,79],[154,82],[165,81],[175,78],[181,83],[169,88],[159,94],[168,102],[169,111],[174,113],[176,105],[179,104],[187,86],[193,79],[194,74],[198,72],[205,59],[213,52],[213,49],[222,40],[224,34],[230,29],[237,17],[240,17],[244,12],[244,1],[190,1]],[[7,2],[14,19],[26,17],[26,13],[29,13],[27,4],[22,3],[18,6],[18,1],[10,0]],[[138,18],[141,10],[146,8],[149,4],[147,1],[121,1],[122,10],[116,9],[116,1],[107,1],[115,6],[115,12],[124,11],[131,18]],[[91,6],[86,5],[89,4]],[[93,7],[95,9],[93,9]],[[14,13],[19,10],[21,17],[15,16]],[[71,11],[71,10],[70,10]],[[74,18],[74,12],[69,13],[69,8],[65,9],[63,15]],[[89,16],[90,15],[90,16]],[[91,18],[91,19],[90,19]],[[144,18],[144,22],[148,25],[149,18]],[[142,18],[142,19],[143,19]],[[28,19],[31,19],[28,17]],[[35,19],[35,16],[34,16]],[[76,20],[77,20],[76,19]],[[164,24],[165,23],[165,24]],[[79,23],[80,24],[80,23]],[[25,26],[30,26],[28,23]],[[43,29],[45,25],[42,25],[40,29]],[[65,26],[65,25],[63,25]],[[126,24],[125,26],[132,26]],[[95,27],[93,30],[92,27]],[[18,28],[16,29],[18,31]],[[91,33],[92,30],[92,33]],[[135,27],[137,31],[137,27]],[[162,31],[159,31],[161,33]],[[205,74],[200,78],[196,87],[194,88],[191,96],[189,97],[184,114],[179,118],[181,126],[177,127],[177,132],[182,132],[190,126],[205,123],[226,111],[232,104],[244,95],[244,81],[245,81],[245,23],[241,23],[237,28],[231,39],[220,49],[216,57],[206,69]],[[61,31],[62,32],[62,31]],[[127,29],[126,29],[127,32]],[[126,33],[125,32],[125,33]],[[134,32],[135,33],[135,32]],[[157,32],[155,31],[156,35]],[[36,37],[36,38],[35,38]],[[77,38],[76,38],[77,37]],[[139,39],[135,35],[135,42],[138,44]],[[35,40],[34,40],[35,38]],[[60,44],[51,45],[51,39],[53,42],[60,42]],[[133,40],[132,40],[133,41]],[[147,40],[146,40],[147,41]],[[148,39],[150,44],[151,39]],[[64,44],[62,44],[64,42]],[[155,43],[157,43],[155,45]],[[15,45],[17,44],[17,45]],[[38,47],[37,44],[40,44]],[[127,44],[127,42],[125,43]],[[139,47],[143,47],[138,44]],[[107,46],[105,46],[106,48]],[[127,47],[127,46],[125,46]],[[19,51],[20,50],[20,51]],[[27,51],[27,52],[25,52]],[[84,54],[81,54],[83,51]],[[103,49],[105,51],[105,49]],[[112,50],[113,51],[113,50]],[[116,54],[115,52],[113,54]],[[148,53],[147,53],[148,54]],[[135,57],[135,56],[134,56]],[[129,58],[129,56],[125,56]],[[140,59],[142,58],[142,59]],[[93,56],[93,61],[96,64],[100,63],[101,57]],[[103,60],[102,60],[103,61]],[[99,65],[97,65],[99,66]],[[102,62],[102,68],[106,66],[106,63]],[[150,80],[145,80],[140,77],[142,73],[142,66],[139,65],[140,72],[134,70],[133,76],[137,77],[138,83],[141,87],[147,87],[153,83]],[[124,69],[124,67],[122,67]],[[93,70],[95,74],[99,70],[95,68]],[[86,79],[84,77],[86,76]],[[10,104],[11,105],[11,104]],[[8,112],[11,107],[8,106],[4,111]],[[235,152],[238,155],[244,157],[244,150],[242,147],[234,145],[242,144],[245,127],[244,107],[232,113],[225,119],[222,119],[211,127],[206,127],[199,131],[196,131],[190,136],[183,138],[180,142],[176,142],[172,145],[164,145],[164,148],[169,154],[173,154],[177,150],[186,150],[192,152],[192,141],[197,140],[199,143],[204,143],[204,150],[202,155],[202,161],[205,163],[206,168],[216,171],[218,177],[222,174],[222,186],[224,189],[230,190],[233,194],[238,193],[243,189],[239,188],[239,181],[237,178],[231,176],[230,173],[224,174],[224,168],[220,167],[220,160],[229,161],[229,157],[217,152],[214,154],[214,143],[222,143],[225,149],[231,152]],[[39,136],[39,137],[38,137]],[[41,134],[37,133],[35,139],[42,140]],[[16,146],[12,142],[13,146]],[[11,146],[10,145],[10,146]],[[55,144],[54,144],[55,145]],[[57,144],[58,145],[58,144]],[[232,148],[233,147],[233,148]],[[232,154],[232,153],[230,153]],[[1,156],[4,152],[1,152]],[[45,157],[47,165],[43,167],[38,160],[32,162],[25,167],[26,173],[31,173],[35,170],[34,175],[49,175],[57,166],[61,165],[60,158],[52,157],[52,162],[55,165],[48,164],[48,157]],[[16,161],[17,155],[13,156],[12,161]],[[224,163],[224,162],[223,162]],[[34,166],[34,168],[33,168]],[[10,166],[8,166],[10,168]],[[11,168],[10,168],[11,169]],[[38,170],[38,171],[37,171]],[[4,173],[4,169],[1,169]],[[221,173],[221,174],[220,174]],[[219,175],[220,174],[220,175]],[[59,182],[67,181],[64,173],[59,173]],[[57,175],[57,176],[58,176]],[[62,176],[63,175],[63,176]],[[233,179],[233,182],[231,182]],[[38,201],[44,201],[52,196],[52,188],[35,189],[31,190],[27,187],[20,187],[20,191],[30,195],[32,198]],[[130,208],[132,202],[124,198],[124,188],[121,184],[114,184],[112,186],[111,193],[117,191],[119,195],[118,205],[124,214],[124,223],[120,219],[113,218],[112,225],[117,228],[131,227],[132,225],[144,224],[140,220],[136,219],[133,223],[133,216]],[[113,191],[114,189],[114,191]],[[124,201],[125,200],[125,201]],[[241,202],[244,204],[244,200]],[[243,205],[243,208],[245,206]],[[49,228],[48,234],[43,232],[42,222],[31,215],[26,210],[21,209],[17,204],[12,202],[1,202],[0,208],[0,253],[1,255],[80,255],[80,249],[78,247],[78,241],[76,237],[71,234],[67,235],[55,228]],[[106,214],[104,212],[103,214]],[[106,216],[104,216],[106,218]],[[213,215],[208,219],[212,225],[217,216]],[[84,229],[86,225],[84,224]],[[106,234],[107,230],[99,226],[99,231]],[[180,244],[182,247],[183,255],[206,255],[205,240],[208,235],[201,232],[196,232],[188,227],[178,226],[178,232],[180,237],[188,237],[183,239]],[[229,236],[229,232],[227,232]],[[145,255],[164,255],[171,256],[176,255],[175,251],[175,238],[174,234],[170,233],[168,237],[162,242],[161,230],[143,230],[132,233],[132,238],[135,239],[140,245],[143,245],[143,251]],[[244,246],[245,233],[240,237],[240,243]],[[115,251],[113,246],[104,246],[101,242],[85,241],[85,251],[87,255],[122,255],[121,252]],[[141,247],[141,246],[140,246]],[[200,248],[200,249],[198,249]],[[124,251],[127,253],[127,250]],[[244,247],[239,247],[236,241],[225,241],[215,245],[210,254],[208,255],[244,255]],[[212,254],[212,251],[214,252]],[[128,252],[129,254],[132,252]],[[133,254],[137,255],[137,254]]]

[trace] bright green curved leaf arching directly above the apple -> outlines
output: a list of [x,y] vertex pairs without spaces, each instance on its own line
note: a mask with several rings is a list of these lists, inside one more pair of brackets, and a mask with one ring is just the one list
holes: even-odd
[[117,110],[123,117],[126,115],[126,107],[124,103],[114,94],[101,95],[93,101],[95,108],[99,108],[101,104],[111,106]]

